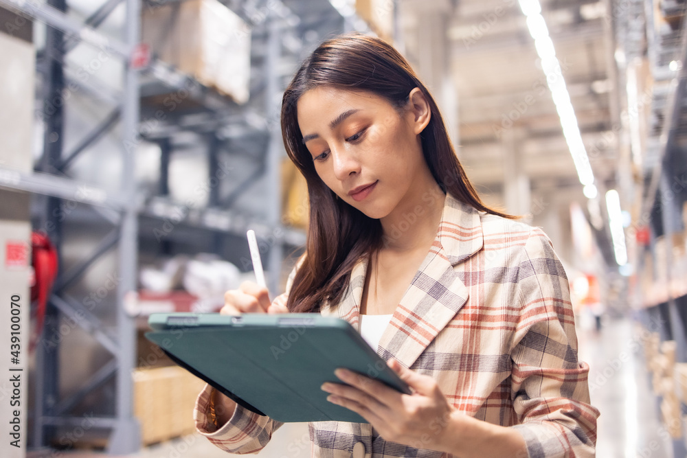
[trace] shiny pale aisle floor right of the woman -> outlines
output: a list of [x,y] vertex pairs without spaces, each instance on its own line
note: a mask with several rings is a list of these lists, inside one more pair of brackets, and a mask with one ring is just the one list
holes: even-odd
[[578,336],[579,357],[590,366],[592,404],[601,411],[596,455],[673,458],[633,321],[608,319],[600,333],[578,328]]

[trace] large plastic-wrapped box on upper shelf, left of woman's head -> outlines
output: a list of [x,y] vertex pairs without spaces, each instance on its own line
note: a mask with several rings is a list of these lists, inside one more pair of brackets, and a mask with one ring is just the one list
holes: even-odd
[[251,29],[217,0],[143,8],[142,42],[160,60],[239,104],[249,98]]

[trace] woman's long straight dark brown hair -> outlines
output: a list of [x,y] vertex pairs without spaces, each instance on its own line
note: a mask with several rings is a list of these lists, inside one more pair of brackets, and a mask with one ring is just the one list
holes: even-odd
[[379,220],[337,198],[317,175],[313,158],[303,144],[297,102],[306,91],[319,86],[368,91],[396,108],[405,105],[410,91],[418,87],[431,108],[429,124],[420,134],[423,155],[442,191],[477,210],[517,218],[482,203],[458,161],[436,102],[394,47],[357,33],[332,38],[306,58],[282,98],[284,146],[308,183],[310,201],[306,255],[286,304],[291,312],[319,311],[323,301],[336,304],[346,291],[353,266],[382,244]]

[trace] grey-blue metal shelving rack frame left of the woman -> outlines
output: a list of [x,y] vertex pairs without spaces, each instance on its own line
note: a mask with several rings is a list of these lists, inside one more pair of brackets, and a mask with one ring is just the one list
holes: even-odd
[[[144,1],[144,0],[143,0]],[[172,1],[172,0],[169,0]],[[151,1],[155,6],[168,3],[165,0]],[[284,227],[280,214],[280,160],[284,156],[282,139],[278,125],[278,99],[284,87],[284,63],[296,62],[307,53],[308,46],[327,35],[357,28],[369,32],[357,18],[350,14],[341,16],[325,0],[311,1],[307,4],[295,0],[224,0],[229,8],[239,14],[254,30],[260,30],[258,48],[262,47],[260,74],[262,78],[251,81],[251,102],[238,106],[218,95],[213,89],[205,87],[191,76],[168,67],[155,58],[140,64],[139,29],[142,0],[105,0],[85,21],[78,21],[67,14],[66,0],[48,0],[43,3],[35,0],[0,0],[4,8],[47,25],[46,46],[37,70],[43,73],[45,101],[58,100],[66,84],[74,84],[82,93],[102,100],[113,106],[100,124],[84,135],[82,139],[66,151],[63,145],[64,113],[63,106],[51,106],[52,115],[44,119],[45,138],[43,156],[32,174],[23,174],[0,167],[0,187],[23,190],[44,196],[45,208],[41,211],[41,227],[49,227],[53,242],[60,247],[61,220],[55,211],[63,201],[87,204],[96,214],[106,221],[111,230],[100,240],[92,253],[80,262],[67,266],[56,281],[54,293],[49,299],[43,341],[55,345],[38,345],[36,350],[36,381],[34,407],[30,413],[32,424],[31,444],[33,448],[49,446],[54,439],[56,428],[78,428],[83,418],[71,413],[74,407],[95,389],[115,378],[114,415],[90,417],[89,424],[94,428],[104,428],[109,433],[108,452],[112,454],[132,453],[140,446],[139,425],[133,415],[133,381],[131,371],[135,368],[135,291],[137,290],[137,256],[139,238],[139,218],[159,218],[164,220],[170,214],[179,214],[179,203],[168,198],[168,167],[173,145],[170,139],[179,130],[203,133],[207,138],[210,170],[216,164],[218,150],[223,148],[222,130],[227,126],[242,126],[264,141],[264,154],[256,158],[262,162],[250,178],[266,174],[269,189],[265,191],[269,203],[266,216],[242,214],[230,208],[230,204],[245,190],[245,183],[235,187],[224,200],[218,195],[216,187],[209,196],[209,205],[202,208],[186,209],[179,224],[190,228],[210,229],[215,233],[244,235],[250,227],[258,236],[271,236],[267,257],[267,268],[273,273],[280,271],[283,247],[298,246],[304,243],[304,233]],[[101,33],[98,27],[106,18],[123,5],[125,25],[123,38],[117,39]],[[257,19],[256,19],[257,18]],[[304,41],[307,34],[311,39]],[[93,79],[81,81],[71,78],[65,54],[74,49],[76,43],[87,43],[124,62],[122,88],[120,90],[98,84]],[[144,53],[145,54],[145,53]],[[145,55],[143,55],[145,57]],[[143,59],[146,60],[145,58]],[[288,65],[286,65],[288,68]],[[281,73],[280,70],[282,69]],[[253,73],[253,72],[251,72]],[[251,76],[252,78],[252,76]],[[142,132],[144,121],[141,114],[141,98],[156,91],[169,91],[183,87],[190,98],[201,108],[197,113],[178,116],[169,122],[157,124],[153,130]],[[260,95],[254,97],[255,95]],[[255,102],[254,102],[255,101]],[[122,173],[119,192],[111,193],[93,185],[78,181],[69,176],[69,165],[80,154],[93,149],[93,145],[119,124],[122,145]],[[161,148],[161,173],[158,195],[142,198],[135,191],[133,147],[139,141],[155,141]],[[229,208],[229,209],[227,209]],[[278,231],[275,229],[279,229]],[[116,325],[107,328],[91,310],[87,310],[65,292],[68,286],[80,280],[91,266],[104,253],[116,249],[117,276],[116,287]],[[272,275],[269,285],[277,290],[278,275]],[[58,386],[60,369],[58,334],[60,316],[69,317],[74,323],[93,336],[102,347],[111,353],[112,358],[84,381],[83,385],[71,396],[60,399]],[[49,325],[52,323],[52,325]]]

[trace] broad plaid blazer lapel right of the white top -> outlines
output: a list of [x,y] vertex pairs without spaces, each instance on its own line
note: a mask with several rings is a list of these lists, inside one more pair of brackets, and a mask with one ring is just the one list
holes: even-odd
[[480,214],[447,194],[437,236],[381,337],[380,356],[413,365],[468,299],[453,266],[482,246]]

